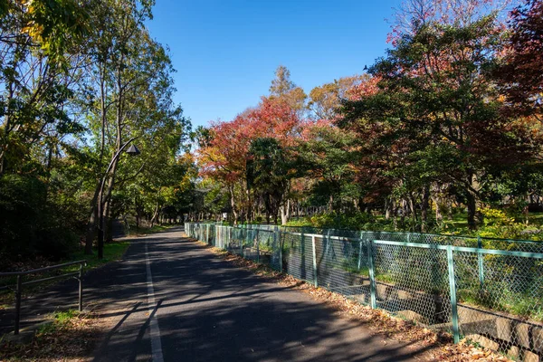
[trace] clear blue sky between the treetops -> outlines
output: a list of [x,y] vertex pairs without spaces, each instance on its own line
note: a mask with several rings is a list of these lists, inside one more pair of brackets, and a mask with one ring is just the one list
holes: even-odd
[[193,126],[231,120],[268,94],[279,65],[307,93],[385,54],[400,0],[157,0],[151,35],[170,48],[176,101]]

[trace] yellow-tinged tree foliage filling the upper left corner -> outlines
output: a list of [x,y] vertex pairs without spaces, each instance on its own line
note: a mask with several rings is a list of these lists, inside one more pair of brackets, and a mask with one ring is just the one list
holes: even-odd
[[89,25],[84,5],[71,0],[7,1],[3,8],[0,175],[24,171],[24,161],[43,138],[49,138],[43,142],[47,153],[58,138],[81,131],[68,101],[78,83],[78,51]]

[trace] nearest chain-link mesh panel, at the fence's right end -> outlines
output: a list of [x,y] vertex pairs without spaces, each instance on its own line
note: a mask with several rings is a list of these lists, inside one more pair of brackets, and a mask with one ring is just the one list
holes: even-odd
[[461,334],[514,359],[543,355],[543,261],[453,252]]

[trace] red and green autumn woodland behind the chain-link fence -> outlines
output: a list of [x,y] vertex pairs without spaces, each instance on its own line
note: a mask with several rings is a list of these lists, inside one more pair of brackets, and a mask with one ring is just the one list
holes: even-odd
[[280,66],[258,106],[197,129],[191,218],[538,238],[542,19],[408,0],[360,74],[307,95]]

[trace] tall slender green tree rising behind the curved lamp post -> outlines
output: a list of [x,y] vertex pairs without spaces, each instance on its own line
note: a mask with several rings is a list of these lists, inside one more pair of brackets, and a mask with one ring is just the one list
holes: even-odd
[[151,5],[110,0],[95,9],[86,95],[98,164],[86,252],[91,252],[100,209],[107,225],[120,154],[127,142],[135,138],[145,145],[167,127],[168,119],[181,117],[171,102],[169,56],[151,39],[144,24],[151,18]]

